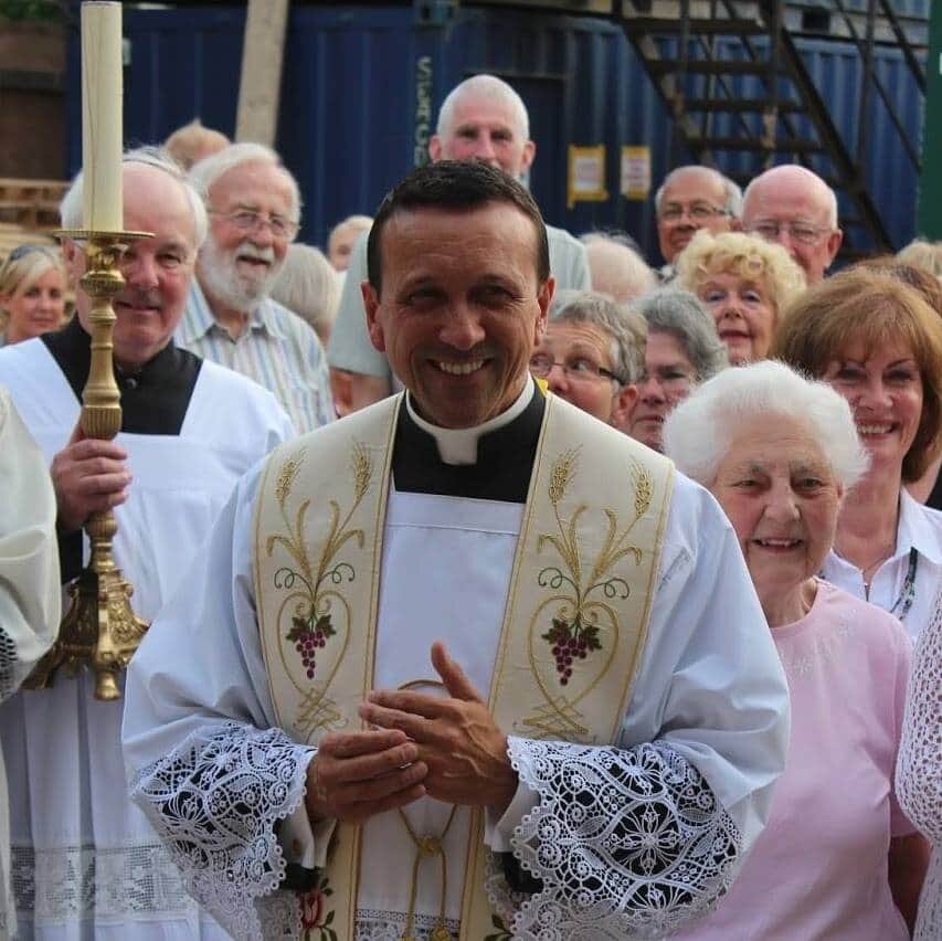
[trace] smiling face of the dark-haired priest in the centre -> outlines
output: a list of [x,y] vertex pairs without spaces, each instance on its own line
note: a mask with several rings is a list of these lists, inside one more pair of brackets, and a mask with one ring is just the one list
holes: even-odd
[[537,233],[516,207],[400,212],[382,233],[381,296],[363,284],[373,346],[441,427],[506,411],[529,381],[553,281],[537,278]]

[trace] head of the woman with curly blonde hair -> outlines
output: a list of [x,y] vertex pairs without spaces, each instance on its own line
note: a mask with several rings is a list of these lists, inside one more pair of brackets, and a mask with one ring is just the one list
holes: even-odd
[[742,232],[701,230],[675,265],[677,285],[703,302],[733,366],[765,359],[780,313],[805,289],[781,245]]

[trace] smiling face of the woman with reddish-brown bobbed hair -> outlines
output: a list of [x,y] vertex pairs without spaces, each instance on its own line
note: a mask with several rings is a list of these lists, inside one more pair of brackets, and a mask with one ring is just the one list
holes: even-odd
[[922,419],[922,376],[912,349],[901,340],[874,350],[851,345],[823,378],[850,403],[870,470],[901,474]]

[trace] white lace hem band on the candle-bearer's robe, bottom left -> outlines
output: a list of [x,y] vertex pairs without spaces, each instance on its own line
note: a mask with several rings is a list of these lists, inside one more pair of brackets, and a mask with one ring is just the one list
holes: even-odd
[[169,853],[156,843],[115,849],[12,846],[10,867],[22,921],[61,924],[89,916],[191,917],[198,911]]

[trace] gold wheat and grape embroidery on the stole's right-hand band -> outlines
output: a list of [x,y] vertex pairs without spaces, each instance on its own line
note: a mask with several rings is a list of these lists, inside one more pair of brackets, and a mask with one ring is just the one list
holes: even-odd
[[[631,594],[627,581],[615,568],[626,557],[632,557],[636,565],[641,564],[642,550],[628,540],[638,520],[648,511],[654,494],[648,472],[632,462],[626,482],[631,487],[626,493],[634,493],[631,519],[620,529],[617,514],[604,508],[605,538],[595,558],[586,560],[580,547],[579,525],[589,507],[580,504],[569,519],[562,510],[578,469],[578,447],[563,452],[553,463],[548,496],[557,532],[541,533],[537,540],[538,553],[552,547],[559,557],[559,564],[546,565],[537,575],[539,586],[552,593],[538,605],[530,621],[530,667],[544,705],[523,723],[536,730],[538,738],[562,736],[579,740],[590,733],[578,705],[599,685],[614,658],[620,623],[611,602],[625,600]],[[550,648],[551,670],[546,669],[542,645]]]

